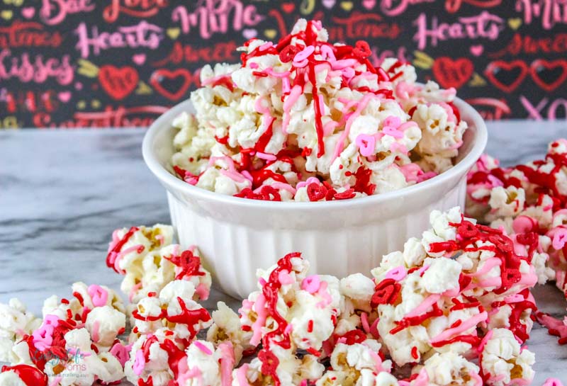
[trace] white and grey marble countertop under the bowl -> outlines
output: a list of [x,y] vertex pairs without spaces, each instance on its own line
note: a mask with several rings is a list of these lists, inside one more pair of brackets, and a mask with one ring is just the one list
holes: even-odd
[[[566,123],[489,123],[488,152],[514,164],[541,157],[567,137]],[[0,302],[18,297],[40,314],[45,297],[70,295],[78,280],[118,290],[106,268],[117,227],[169,223],[165,191],[145,167],[143,130],[0,131]],[[534,290],[539,308],[562,317],[567,302],[552,285]],[[213,291],[206,302],[236,300]],[[567,381],[567,345],[538,324],[528,341],[536,377]],[[127,385],[124,383],[124,385]]]

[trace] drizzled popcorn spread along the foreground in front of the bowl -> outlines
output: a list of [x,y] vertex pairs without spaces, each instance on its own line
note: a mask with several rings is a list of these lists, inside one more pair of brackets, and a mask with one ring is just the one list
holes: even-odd
[[[0,307],[13,320],[2,330],[13,365],[0,385],[124,377],[138,386],[528,385],[534,355],[522,344],[534,319],[537,249],[458,208],[430,220],[421,239],[383,256],[373,278],[310,275],[308,261],[292,253],[258,271],[258,290],[238,314],[220,302],[212,315],[196,302],[203,282],[172,263],[185,252],[169,244],[169,227],[119,229],[107,262],[145,283],[136,304],[75,283],[71,300],[45,301],[43,320],[15,300]],[[143,263],[147,256],[153,265]],[[148,281],[157,271],[162,276]],[[190,272],[207,274],[200,264]],[[124,283],[123,290],[132,293]]]

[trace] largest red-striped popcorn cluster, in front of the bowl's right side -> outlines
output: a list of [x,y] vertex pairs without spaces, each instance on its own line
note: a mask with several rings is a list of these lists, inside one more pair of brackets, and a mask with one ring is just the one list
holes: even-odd
[[458,208],[433,211],[430,221],[421,240],[384,256],[372,271],[376,327],[393,361],[415,363],[435,352],[474,356],[485,324],[526,340],[535,309],[529,288],[537,283],[528,257],[515,254],[498,229],[475,225]]

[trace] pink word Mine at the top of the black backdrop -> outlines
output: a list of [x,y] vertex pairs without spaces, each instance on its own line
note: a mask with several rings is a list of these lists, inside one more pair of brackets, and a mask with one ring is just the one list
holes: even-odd
[[208,39],[213,33],[227,33],[229,24],[233,30],[240,31],[257,25],[264,16],[258,14],[256,6],[244,6],[240,0],[201,0],[191,13],[185,6],[174,8],[172,20],[179,23],[184,34],[198,28],[201,38]]

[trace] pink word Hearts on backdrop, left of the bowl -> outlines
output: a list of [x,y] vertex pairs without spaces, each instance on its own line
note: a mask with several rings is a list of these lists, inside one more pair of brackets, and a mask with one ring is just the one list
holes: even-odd
[[80,23],[75,33],[79,35],[79,41],[75,47],[81,52],[83,58],[89,57],[91,48],[94,55],[99,55],[101,51],[109,48],[147,47],[155,50],[164,38],[162,28],[147,23],[147,21],[140,21],[137,25],[129,27],[118,27],[118,30],[113,33],[99,33],[99,28],[94,25],[91,28],[91,36],[89,36],[86,24]]

